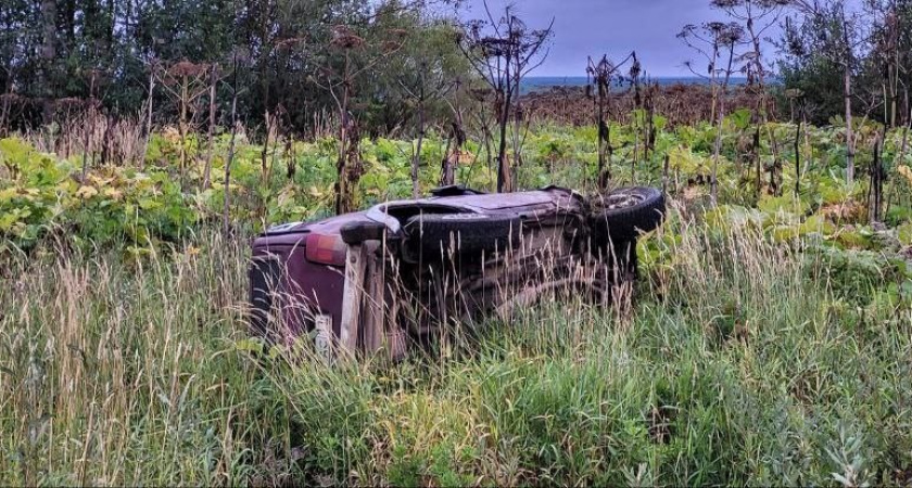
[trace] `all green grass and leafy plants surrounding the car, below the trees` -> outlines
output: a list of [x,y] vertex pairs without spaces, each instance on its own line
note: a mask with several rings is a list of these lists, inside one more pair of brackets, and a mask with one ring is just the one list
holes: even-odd
[[[0,483],[909,483],[912,157],[901,132],[887,132],[883,152],[888,224],[870,227],[866,180],[847,185],[840,172],[838,127],[809,128],[797,197],[794,172],[762,147],[758,197],[736,117],[717,208],[700,184],[710,126],[662,130],[635,164],[637,131],[612,128],[616,183],[661,184],[669,155],[673,210],[641,243],[634,301],[545,304],[394,367],[327,368],[246,338],[245,241],[212,231],[223,188],[201,189],[202,163],[181,190],[170,132],[152,139],[142,170],[86,178],[79,158],[2,140]],[[592,188],[595,139],[534,129],[520,185]],[[444,145],[426,141],[425,190]],[[231,217],[244,234],[332,206],[334,141],[276,146],[264,179],[263,147],[239,145]],[[362,205],[410,194],[411,146],[364,141]],[[490,188],[496,168],[467,149],[457,181]]]

